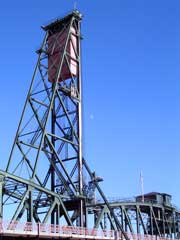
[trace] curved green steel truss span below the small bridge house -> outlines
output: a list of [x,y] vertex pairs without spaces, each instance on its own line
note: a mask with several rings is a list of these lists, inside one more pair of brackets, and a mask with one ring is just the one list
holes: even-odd
[[[130,234],[156,235],[164,238],[180,237],[180,211],[174,206],[149,202],[110,202],[123,230]],[[95,227],[108,227],[109,209],[96,203],[87,206],[95,217]]]

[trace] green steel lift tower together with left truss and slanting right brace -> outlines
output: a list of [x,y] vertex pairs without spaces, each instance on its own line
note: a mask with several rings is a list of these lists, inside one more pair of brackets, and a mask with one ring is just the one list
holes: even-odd
[[87,205],[96,195],[108,209],[110,228],[127,238],[82,157],[81,17],[74,11],[43,27],[10,157],[0,171],[0,217],[88,227]]

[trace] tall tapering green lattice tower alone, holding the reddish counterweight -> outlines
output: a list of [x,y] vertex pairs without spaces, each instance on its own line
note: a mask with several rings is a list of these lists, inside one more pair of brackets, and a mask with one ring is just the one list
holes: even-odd
[[[61,194],[83,226],[80,21],[81,14],[73,12],[43,27],[45,38],[6,171]],[[42,193],[36,199],[30,189],[27,194],[37,209],[42,201],[52,204]],[[58,223],[53,205],[47,214]],[[32,218],[29,209],[28,221]]]

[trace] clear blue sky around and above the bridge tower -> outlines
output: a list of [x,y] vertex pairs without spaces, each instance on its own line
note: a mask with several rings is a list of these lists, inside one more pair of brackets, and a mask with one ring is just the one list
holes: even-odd
[[[0,167],[13,142],[38,49],[40,26],[71,0],[0,3]],[[110,197],[167,192],[180,206],[180,2],[79,0],[84,156]]]

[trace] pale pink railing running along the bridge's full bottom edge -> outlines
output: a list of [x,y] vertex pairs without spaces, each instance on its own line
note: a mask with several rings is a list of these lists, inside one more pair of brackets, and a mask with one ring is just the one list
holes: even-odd
[[[22,223],[18,221],[0,221],[0,235],[19,238],[37,236],[41,238],[73,238],[73,239],[96,239],[96,240],[124,240],[120,231],[88,229],[83,227],[60,226],[44,223]],[[155,235],[126,233],[130,240],[172,240]]]

